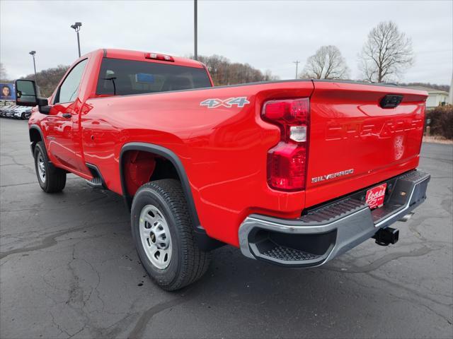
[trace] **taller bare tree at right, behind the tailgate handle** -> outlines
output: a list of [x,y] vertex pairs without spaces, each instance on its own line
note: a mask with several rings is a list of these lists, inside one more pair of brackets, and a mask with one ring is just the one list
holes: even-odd
[[379,23],[368,33],[359,54],[359,69],[367,81],[398,79],[413,64],[412,41],[391,21]]

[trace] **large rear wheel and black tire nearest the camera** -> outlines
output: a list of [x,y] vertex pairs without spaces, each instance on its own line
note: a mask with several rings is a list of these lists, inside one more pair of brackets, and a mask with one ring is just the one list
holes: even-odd
[[141,186],[132,201],[131,225],[142,266],[162,289],[179,290],[206,272],[210,254],[195,243],[178,180],[162,179]]

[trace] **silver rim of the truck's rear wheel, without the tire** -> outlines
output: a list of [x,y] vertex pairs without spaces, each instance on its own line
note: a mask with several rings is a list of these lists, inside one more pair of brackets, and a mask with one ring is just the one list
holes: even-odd
[[159,270],[167,268],[171,261],[171,234],[159,208],[154,205],[142,208],[139,231],[149,261]]

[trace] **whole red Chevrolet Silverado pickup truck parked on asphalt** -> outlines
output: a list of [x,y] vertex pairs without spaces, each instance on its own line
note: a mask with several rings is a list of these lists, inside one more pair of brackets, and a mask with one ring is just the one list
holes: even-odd
[[[68,172],[124,197],[142,265],[165,290],[200,278],[222,244],[320,266],[422,203],[427,93],[394,85],[270,81],[213,87],[198,61],[100,49],[53,95],[16,81],[38,182]],[[93,206],[96,208],[96,206]]]

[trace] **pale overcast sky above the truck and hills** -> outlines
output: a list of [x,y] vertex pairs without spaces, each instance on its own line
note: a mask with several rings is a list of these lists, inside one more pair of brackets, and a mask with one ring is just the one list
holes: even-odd
[[[336,45],[360,78],[357,53],[369,30],[393,20],[413,40],[415,64],[405,82],[452,80],[453,1],[198,1],[198,53],[294,78],[321,45]],[[178,56],[193,53],[193,1],[0,1],[0,61],[9,78],[33,73],[98,48]]]

